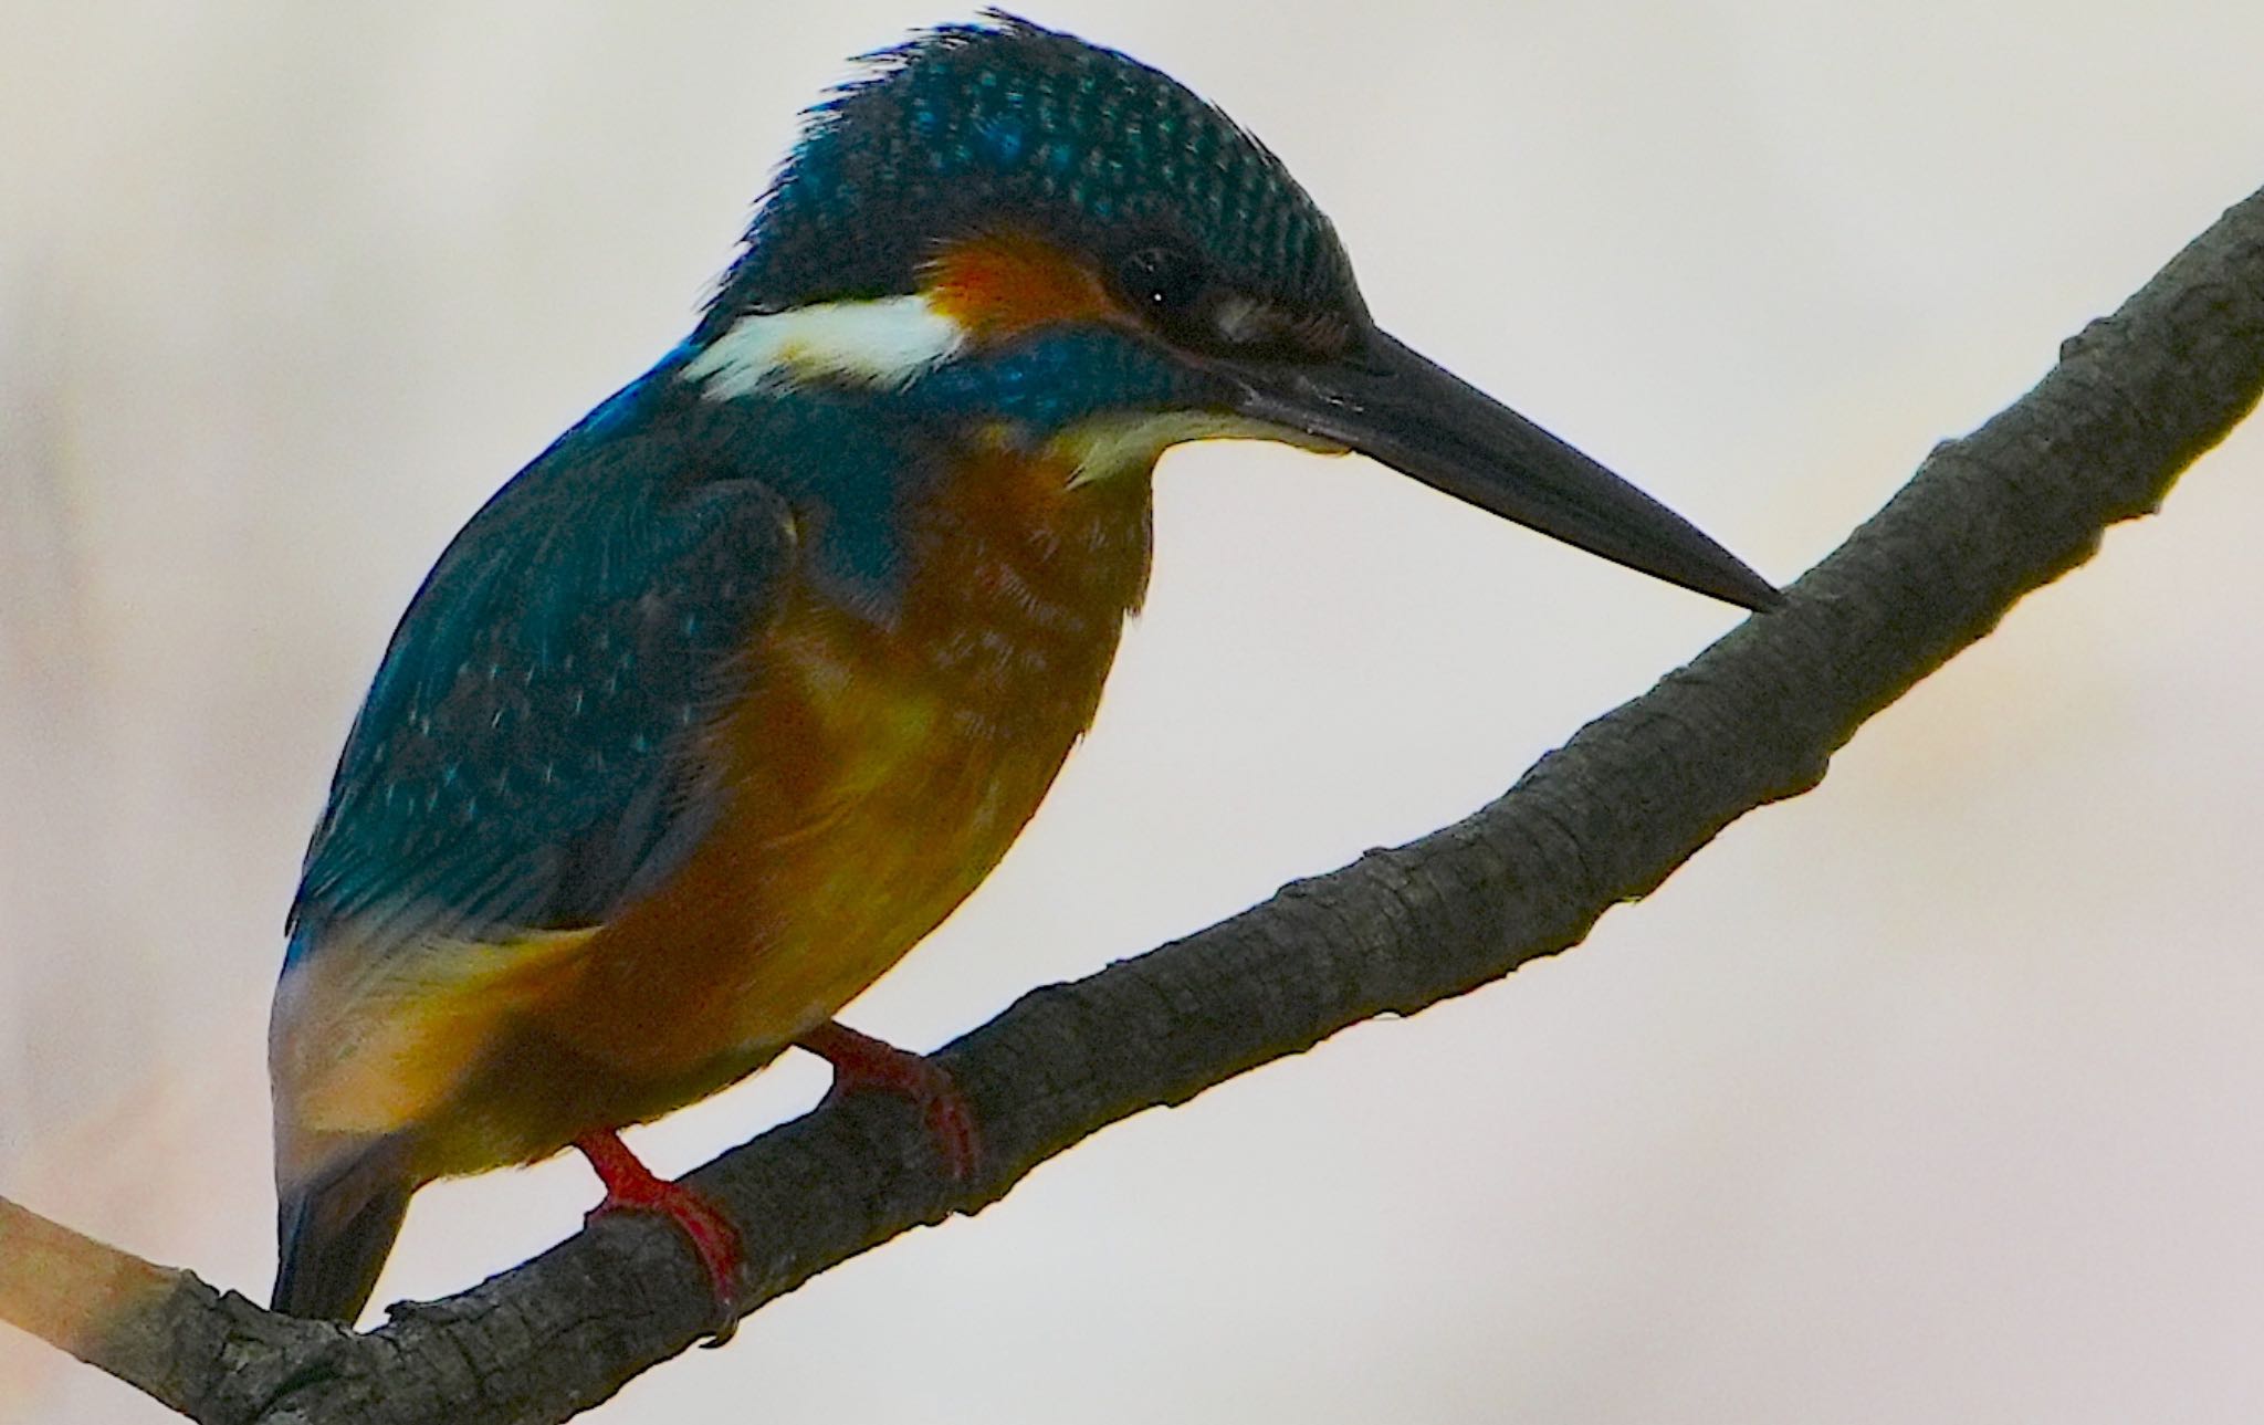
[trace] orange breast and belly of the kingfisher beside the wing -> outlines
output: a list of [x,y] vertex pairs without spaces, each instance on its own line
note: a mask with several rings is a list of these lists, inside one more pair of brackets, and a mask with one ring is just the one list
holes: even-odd
[[731,811],[598,933],[555,1038],[709,1092],[718,1060],[758,1065],[878,979],[1037,811],[1146,589],[1148,480],[1071,489],[989,451],[915,519],[894,623],[786,598],[718,745]]

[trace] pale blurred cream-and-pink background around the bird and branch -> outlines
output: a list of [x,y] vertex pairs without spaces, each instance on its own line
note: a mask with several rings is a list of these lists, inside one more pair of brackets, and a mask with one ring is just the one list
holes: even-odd
[[[2264,177],[2264,9],[1030,0],[1223,102],[1404,338],[1775,578]],[[0,0],[0,1194],[265,1298],[281,913],[457,523],[688,326],[910,2]],[[1730,612],[1207,446],[1100,725],[851,1024],[1467,813]],[[1573,954],[833,1271],[595,1418],[2264,1416],[2264,428]],[[632,1142],[688,1169],[811,1063]],[[380,1300],[573,1232],[417,1198]],[[165,1418],[0,1330],[0,1420]]]

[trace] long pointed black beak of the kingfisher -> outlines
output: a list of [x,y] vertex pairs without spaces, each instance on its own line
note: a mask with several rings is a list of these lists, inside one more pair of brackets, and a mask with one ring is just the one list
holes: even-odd
[[1363,455],[1592,555],[1746,609],[1782,596],[1666,505],[1404,342],[1340,362],[1234,362],[1238,410]]

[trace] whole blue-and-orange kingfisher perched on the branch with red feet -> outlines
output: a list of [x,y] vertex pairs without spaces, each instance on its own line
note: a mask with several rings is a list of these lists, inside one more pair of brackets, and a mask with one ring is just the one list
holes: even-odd
[[788,1049],[998,863],[1094,720],[1195,440],[1358,451],[1746,609],[1775,589],[1370,317],[1220,109],[987,11],[808,111],[691,335],[521,469],[410,600],[274,997],[274,1305],[353,1321],[410,1194],[580,1149],[729,1325],[738,1232],[627,1126]]

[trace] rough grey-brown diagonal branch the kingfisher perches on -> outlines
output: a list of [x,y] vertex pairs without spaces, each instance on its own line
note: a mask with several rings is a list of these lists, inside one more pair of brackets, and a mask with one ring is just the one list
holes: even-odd
[[[2264,390],[2264,193],[2230,208],[2058,367],[1918,476],[1784,609],[1583,727],[1501,800],[1089,979],[940,1053],[987,1160],[953,1196],[915,1112],[829,1103],[693,1180],[745,1230],[743,1312],[1032,1167],[1361,1019],[1576,945],[1746,811],[1800,795],[1854,729],[2024,594],[2149,514]],[[211,1425],[566,1420],[681,1353],[706,1278],[611,1217],[462,1296],[355,1334],[294,1321],[0,1201],[0,1319]]]

